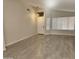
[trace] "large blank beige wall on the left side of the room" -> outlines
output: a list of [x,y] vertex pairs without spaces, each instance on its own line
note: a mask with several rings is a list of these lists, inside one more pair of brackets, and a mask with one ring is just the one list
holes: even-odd
[[6,45],[37,33],[36,20],[20,0],[4,0],[4,39]]

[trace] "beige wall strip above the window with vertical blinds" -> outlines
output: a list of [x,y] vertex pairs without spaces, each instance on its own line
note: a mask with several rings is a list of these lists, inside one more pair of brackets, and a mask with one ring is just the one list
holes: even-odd
[[54,17],[72,17],[75,16],[75,12],[67,12],[67,11],[59,11],[59,10],[48,10],[45,13],[46,17],[49,18],[50,16]]

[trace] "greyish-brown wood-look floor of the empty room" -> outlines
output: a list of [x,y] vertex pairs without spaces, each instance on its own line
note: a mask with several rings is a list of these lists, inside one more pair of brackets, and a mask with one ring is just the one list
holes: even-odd
[[75,37],[36,35],[8,46],[5,57],[13,59],[75,59]]

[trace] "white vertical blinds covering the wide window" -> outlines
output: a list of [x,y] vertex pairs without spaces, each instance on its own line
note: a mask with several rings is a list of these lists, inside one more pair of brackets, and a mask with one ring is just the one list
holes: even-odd
[[46,30],[74,30],[74,17],[47,18]]

